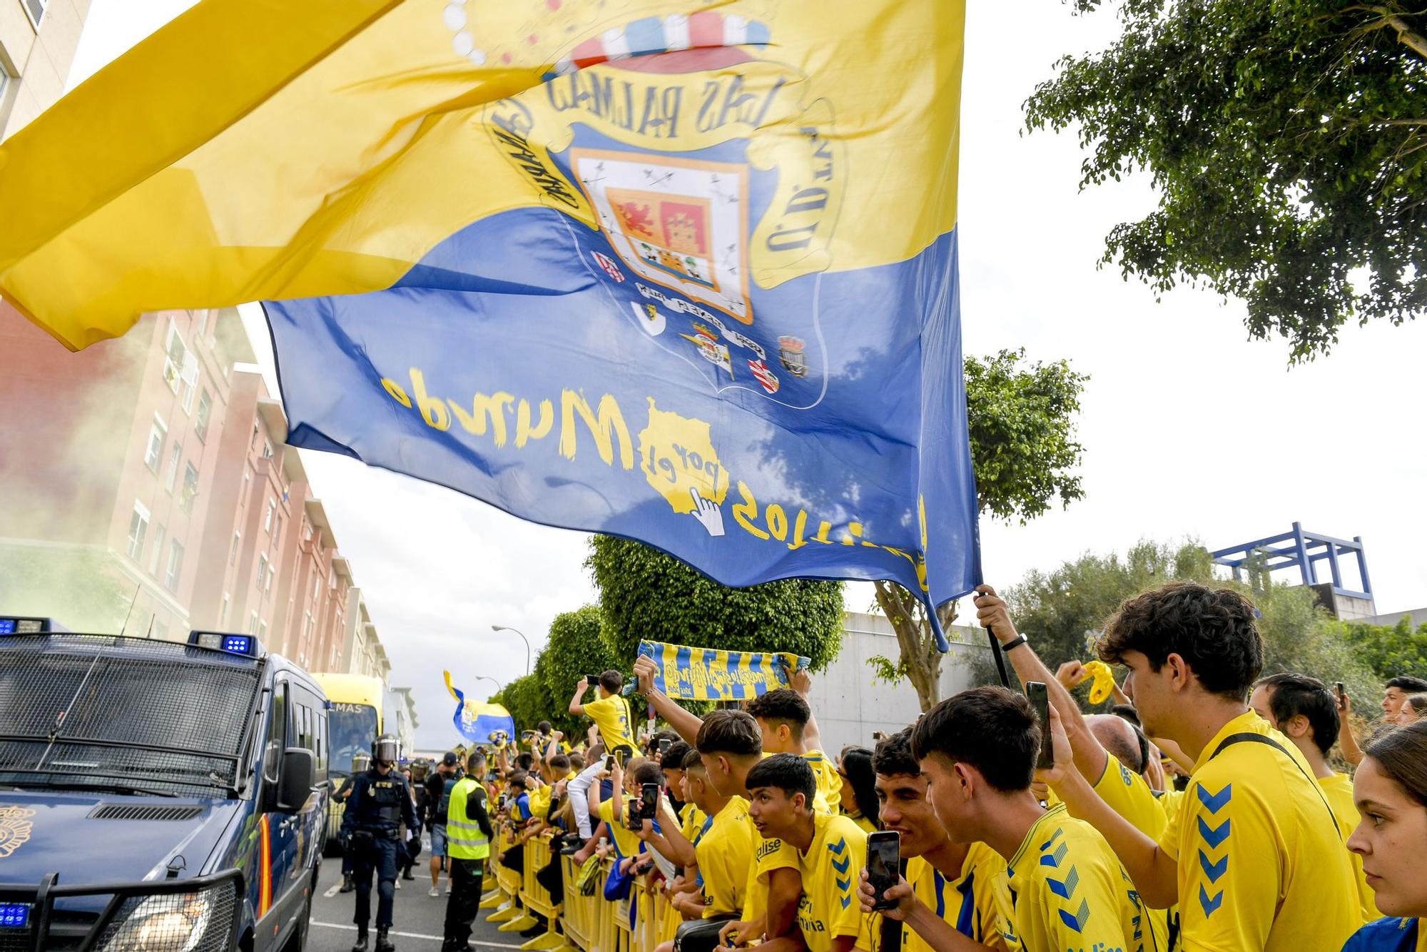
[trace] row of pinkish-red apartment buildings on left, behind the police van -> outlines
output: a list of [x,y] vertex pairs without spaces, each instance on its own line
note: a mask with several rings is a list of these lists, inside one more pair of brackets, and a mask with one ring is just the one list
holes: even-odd
[[0,347],[14,368],[0,380],[3,611],[157,638],[247,631],[308,669],[385,679],[237,311],[146,315],[71,354],[0,305]]

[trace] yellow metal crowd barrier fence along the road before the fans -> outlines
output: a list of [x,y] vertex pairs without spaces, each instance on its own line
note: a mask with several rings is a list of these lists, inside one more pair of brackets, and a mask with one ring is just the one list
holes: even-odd
[[[502,932],[522,932],[541,921],[545,931],[521,943],[521,949],[555,952],[655,952],[661,942],[674,939],[682,916],[664,896],[664,878],[655,872],[635,876],[629,898],[605,899],[604,888],[616,862],[612,856],[599,861],[594,895],[579,892],[581,868],[571,856],[555,856],[551,836],[534,836],[519,846],[521,869],[501,862],[517,846],[508,831],[502,831],[492,845],[491,868],[495,889],[481,901],[489,911],[487,922],[499,923]],[[558,859],[562,893],[552,896],[538,878],[541,869]]]

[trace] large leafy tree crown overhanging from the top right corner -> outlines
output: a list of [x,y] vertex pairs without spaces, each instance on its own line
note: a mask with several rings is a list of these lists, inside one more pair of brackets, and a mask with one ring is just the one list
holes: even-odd
[[[1100,0],[1073,0],[1079,13]],[[1077,126],[1080,187],[1149,170],[1159,207],[1116,226],[1156,293],[1203,283],[1293,360],[1350,317],[1427,307],[1427,9],[1401,0],[1124,0],[1110,49],[1065,57],[1029,128]],[[1366,280],[1353,274],[1363,268]]]

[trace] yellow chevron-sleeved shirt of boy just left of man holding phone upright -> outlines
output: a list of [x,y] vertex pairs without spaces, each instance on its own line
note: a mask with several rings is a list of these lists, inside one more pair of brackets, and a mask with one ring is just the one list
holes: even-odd
[[803,895],[798,903],[798,929],[808,952],[829,952],[832,941],[853,936],[855,948],[872,949],[869,921],[858,902],[868,835],[846,816],[813,814],[812,844],[798,854]]

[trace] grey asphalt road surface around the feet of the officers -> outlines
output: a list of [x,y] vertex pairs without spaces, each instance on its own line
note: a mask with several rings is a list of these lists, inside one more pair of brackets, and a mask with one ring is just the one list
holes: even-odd
[[[441,923],[445,919],[445,873],[441,875],[441,895],[430,896],[431,871],[430,852],[422,852],[417,859],[412,875],[415,882],[401,882],[397,891],[397,903],[392,911],[391,941],[400,952],[440,952]],[[337,892],[341,885],[341,865],[338,856],[323,859],[323,872],[318,879],[318,892],[313,901],[313,923],[308,931],[307,948],[310,952],[347,952],[357,941],[357,926],[352,925],[352,911],[355,909],[355,893]],[[377,912],[377,888],[372,883],[372,916]],[[475,919],[475,932],[471,935],[471,945],[481,949],[518,949],[524,939],[509,932],[498,932],[494,923],[487,923],[485,916],[489,909],[482,909]],[[371,928],[371,942],[377,941],[375,925]]]

